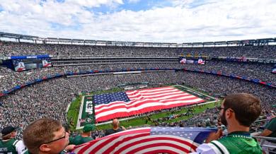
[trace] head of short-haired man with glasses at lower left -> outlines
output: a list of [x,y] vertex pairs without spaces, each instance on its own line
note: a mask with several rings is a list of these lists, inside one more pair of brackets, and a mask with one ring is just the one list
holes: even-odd
[[23,141],[28,153],[61,153],[69,143],[69,134],[55,119],[38,119],[23,131]]

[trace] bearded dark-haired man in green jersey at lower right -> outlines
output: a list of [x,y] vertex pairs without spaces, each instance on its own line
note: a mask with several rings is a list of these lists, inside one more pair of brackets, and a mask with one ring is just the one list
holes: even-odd
[[223,137],[222,129],[210,134],[197,153],[260,153],[262,148],[251,137],[249,127],[260,116],[260,100],[247,93],[227,95],[222,102],[220,117],[228,130]]

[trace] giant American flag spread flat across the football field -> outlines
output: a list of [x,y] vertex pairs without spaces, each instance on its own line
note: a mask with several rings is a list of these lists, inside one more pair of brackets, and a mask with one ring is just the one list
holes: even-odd
[[131,90],[94,96],[96,122],[190,105],[205,100],[172,87]]

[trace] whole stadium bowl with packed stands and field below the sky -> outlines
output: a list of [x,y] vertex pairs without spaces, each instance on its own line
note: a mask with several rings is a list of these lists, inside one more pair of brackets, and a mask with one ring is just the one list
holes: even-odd
[[[1,129],[12,124],[23,131],[40,118],[69,124],[73,136],[85,124],[96,124],[94,135],[100,136],[113,118],[126,127],[204,127],[216,121],[220,100],[230,93],[251,93],[262,100],[263,112],[275,109],[276,38],[177,44],[0,32],[2,38],[15,41],[0,42]],[[114,111],[105,117],[97,113],[96,96],[127,93],[131,97],[135,91],[147,98],[147,93],[153,95],[150,90],[161,93],[160,89],[177,90],[197,100],[154,106],[153,98],[135,112]],[[265,116],[260,119],[251,126],[252,132],[265,123]],[[22,138],[22,132],[17,138]]]

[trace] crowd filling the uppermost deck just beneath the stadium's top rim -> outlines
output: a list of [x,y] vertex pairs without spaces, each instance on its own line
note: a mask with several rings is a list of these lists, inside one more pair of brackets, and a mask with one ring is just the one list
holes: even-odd
[[253,57],[273,59],[276,46],[236,47],[105,47],[94,45],[34,44],[1,42],[0,57],[51,54],[54,57],[178,57],[206,55],[222,57]]

